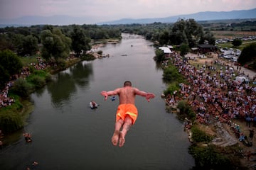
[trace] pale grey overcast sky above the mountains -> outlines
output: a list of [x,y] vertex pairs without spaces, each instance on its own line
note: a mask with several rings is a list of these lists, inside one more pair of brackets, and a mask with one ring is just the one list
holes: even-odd
[[87,23],[256,8],[256,0],[0,0],[0,18],[75,16]]

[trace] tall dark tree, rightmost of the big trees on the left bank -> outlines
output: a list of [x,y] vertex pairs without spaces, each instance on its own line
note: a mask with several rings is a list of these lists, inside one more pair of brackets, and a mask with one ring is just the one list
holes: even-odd
[[90,50],[90,38],[87,38],[82,28],[75,26],[71,33],[72,48],[75,55],[78,57],[82,51]]

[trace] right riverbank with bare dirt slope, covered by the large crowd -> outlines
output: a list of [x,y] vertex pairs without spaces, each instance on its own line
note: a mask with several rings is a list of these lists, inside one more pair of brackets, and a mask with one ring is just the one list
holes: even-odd
[[[233,101],[233,99],[235,100],[238,97],[244,98],[241,100],[249,100],[246,97],[247,94],[244,94],[246,88],[244,87],[245,89],[238,92],[236,92],[235,89],[233,91],[228,91],[228,88],[230,90],[233,86],[237,85],[232,85],[231,81],[230,86],[227,86],[226,84],[228,84],[228,79],[230,79],[233,74],[243,73],[249,75],[249,77],[251,78],[255,75],[255,72],[247,72],[245,68],[242,68],[235,69],[235,73],[230,73],[228,72],[227,67],[232,66],[232,63],[228,62],[227,60],[222,60],[218,58],[218,55],[215,53],[211,53],[209,57],[203,59],[198,55],[189,53],[188,55],[186,55],[186,59],[187,62],[184,62],[184,60],[182,60],[178,54],[175,54],[172,59],[172,63],[176,65],[176,67],[179,69],[179,72],[183,74],[183,76],[187,77],[189,82],[187,86],[181,86],[181,90],[178,91],[178,94],[181,95],[181,98],[178,98],[178,101],[182,99],[187,100],[188,103],[190,103],[193,110],[196,112],[196,120],[195,122],[193,122],[193,124],[196,124],[199,129],[201,129],[203,132],[206,132],[207,135],[213,137],[212,142],[205,143],[201,146],[204,148],[208,145],[215,145],[222,150],[220,153],[226,154],[227,156],[232,155],[230,154],[230,152],[234,151],[233,149],[230,150],[228,148],[234,146],[235,148],[242,150],[242,152],[239,152],[238,155],[235,155],[234,157],[236,157],[236,159],[239,160],[240,164],[242,166],[245,166],[245,168],[253,169],[253,167],[255,167],[255,154],[247,159],[247,153],[256,152],[256,147],[254,145],[256,143],[255,137],[252,137],[252,146],[245,146],[245,142],[240,141],[238,139],[238,135],[243,134],[249,137],[250,130],[255,131],[256,127],[255,125],[252,125],[252,121],[250,122],[251,125],[249,126],[248,122],[246,122],[243,117],[230,117],[230,115],[233,115],[233,111],[237,110],[240,107],[230,105],[231,103],[229,101]],[[223,72],[223,74],[220,74],[221,72]],[[220,75],[222,75],[223,77]],[[225,79],[227,78],[227,81],[223,80],[224,77]],[[232,78],[230,80],[232,80]],[[239,96],[236,96],[237,94],[239,94]],[[251,97],[250,100],[254,101],[255,91],[249,95]],[[219,96],[220,98],[222,98],[221,101],[216,102],[216,100],[213,100],[214,96]],[[225,101],[226,97],[228,97],[229,100]],[[192,98],[194,99],[192,100]],[[220,100],[220,98],[218,100]],[[173,102],[174,100],[171,100],[171,98],[170,100],[167,100],[167,106],[169,106],[170,101]],[[215,104],[212,105],[212,103]],[[223,105],[223,103],[225,103],[225,105]],[[249,108],[251,108],[251,104],[253,104],[253,102],[250,102]],[[247,111],[246,106],[244,107],[245,108],[240,108],[240,110]],[[225,111],[229,112],[226,113]],[[250,112],[252,113],[253,111],[254,110]],[[239,125],[238,133],[234,130],[234,125]],[[188,132],[188,138],[189,140],[191,140],[191,136],[193,134],[191,134],[190,129],[186,130]],[[191,142],[193,143],[193,141]]]

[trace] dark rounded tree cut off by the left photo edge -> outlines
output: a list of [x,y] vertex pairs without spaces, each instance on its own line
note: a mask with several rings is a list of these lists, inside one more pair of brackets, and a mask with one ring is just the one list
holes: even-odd
[[22,63],[18,56],[11,50],[0,51],[0,71],[1,71],[1,87],[9,81],[14,74],[21,72]]

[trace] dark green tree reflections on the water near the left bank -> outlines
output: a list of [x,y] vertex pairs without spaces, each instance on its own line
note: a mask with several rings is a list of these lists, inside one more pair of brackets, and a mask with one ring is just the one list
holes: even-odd
[[60,107],[64,102],[68,104],[70,97],[77,92],[77,86],[85,87],[89,84],[88,79],[92,73],[91,63],[80,62],[55,74],[53,81],[47,86],[53,105]]

